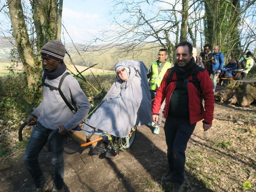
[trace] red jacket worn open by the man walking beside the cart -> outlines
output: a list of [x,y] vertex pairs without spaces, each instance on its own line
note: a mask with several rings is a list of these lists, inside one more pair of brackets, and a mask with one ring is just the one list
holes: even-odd
[[[194,70],[194,71],[193,71]],[[188,107],[190,123],[194,124],[202,119],[204,123],[212,124],[213,112],[214,112],[214,92],[212,90],[212,81],[207,70],[200,71],[196,67],[192,68],[191,75],[188,76],[188,80],[192,81],[192,74],[197,73],[198,81],[200,82],[200,88],[202,91],[202,98],[204,98],[204,106],[200,99],[200,93],[192,82],[188,82]],[[170,98],[176,87],[177,82],[168,83],[168,75],[170,69],[167,70],[164,78],[160,84],[160,87],[156,91],[156,98],[152,106],[152,114],[159,114],[161,104],[166,98],[166,106],[164,111],[164,117],[168,116],[168,110],[170,106]],[[174,71],[173,80],[177,80],[176,72]]]

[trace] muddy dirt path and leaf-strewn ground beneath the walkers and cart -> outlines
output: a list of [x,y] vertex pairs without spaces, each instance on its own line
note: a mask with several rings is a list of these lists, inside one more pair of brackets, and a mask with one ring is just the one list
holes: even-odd
[[[26,128],[25,128],[26,129]],[[89,156],[72,140],[66,143],[66,192],[168,192],[162,184],[167,147],[164,130],[138,127],[134,146],[114,158]],[[29,132],[27,130],[27,132]],[[24,132],[26,134],[26,131]],[[16,132],[13,133],[17,140]],[[198,122],[186,150],[185,192],[256,191],[256,106],[238,107],[216,102],[213,127],[204,132]],[[34,185],[21,160],[24,150],[2,158],[0,192],[33,191]],[[52,187],[50,153],[40,154],[46,181]],[[250,188],[243,186],[250,182]]]

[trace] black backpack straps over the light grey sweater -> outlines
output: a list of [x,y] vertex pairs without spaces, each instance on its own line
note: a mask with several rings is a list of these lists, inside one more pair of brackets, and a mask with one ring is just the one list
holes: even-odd
[[76,103],[74,102],[74,99],[73,99],[73,97],[72,97],[72,94],[70,93],[70,94],[71,94],[71,102],[72,102],[72,105],[73,105],[73,106],[68,102],[68,100],[66,99],[66,97],[64,96],[64,94],[63,94],[63,92],[62,92],[62,90],[61,90],[61,85],[62,85],[64,79],[66,78],[66,76],[68,76],[68,75],[70,75],[69,72],[64,73],[64,75],[60,78],[60,83],[59,83],[59,86],[58,86],[58,88],[57,88],[57,87],[51,86],[51,85],[49,85],[49,84],[47,84],[47,83],[44,82],[44,81],[45,81],[45,78],[46,78],[46,74],[44,74],[44,75],[42,76],[42,86],[49,87],[49,88],[50,88],[50,91],[52,91],[52,90],[58,91],[58,92],[60,93],[60,96],[62,97],[62,99],[64,100],[64,102],[66,103],[66,105],[68,106],[68,108],[75,114],[76,111],[77,111],[77,108],[74,109],[74,107],[73,107],[73,106],[76,106]]

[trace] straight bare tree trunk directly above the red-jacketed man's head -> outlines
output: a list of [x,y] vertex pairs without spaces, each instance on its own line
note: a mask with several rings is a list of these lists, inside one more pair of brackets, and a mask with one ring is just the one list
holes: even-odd
[[188,28],[188,0],[182,0],[182,21],[180,29],[180,41],[187,40],[187,28]]

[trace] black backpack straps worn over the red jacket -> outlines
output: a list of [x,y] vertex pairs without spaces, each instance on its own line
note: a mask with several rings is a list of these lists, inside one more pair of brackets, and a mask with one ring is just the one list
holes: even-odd
[[[198,68],[198,72],[199,71],[201,71],[201,72],[204,71],[204,68],[201,68],[201,67],[198,67],[198,66],[196,66],[196,67]],[[188,80],[188,79],[184,79],[184,80],[181,80],[181,79],[177,80],[176,79],[176,80],[173,80],[172,79],[173,74],[174,74],[174,67],[172,67],[170,69],[170,73],[169,73],[168,78],[167,78],[167,85],[170,84],[170,82],[179,82],[179,81],[186,82],[186,83],[188,83],[188,82],[193,83],[193,85],[195,86],[196,90],[198,91],[198,96],[199,96],[200,101],[202,103],[203,96],[202,96],[202,90],[201,90],[201,86],[200,86],[200,81],[197,78],[197,73],[192,74],[192,80]]]

